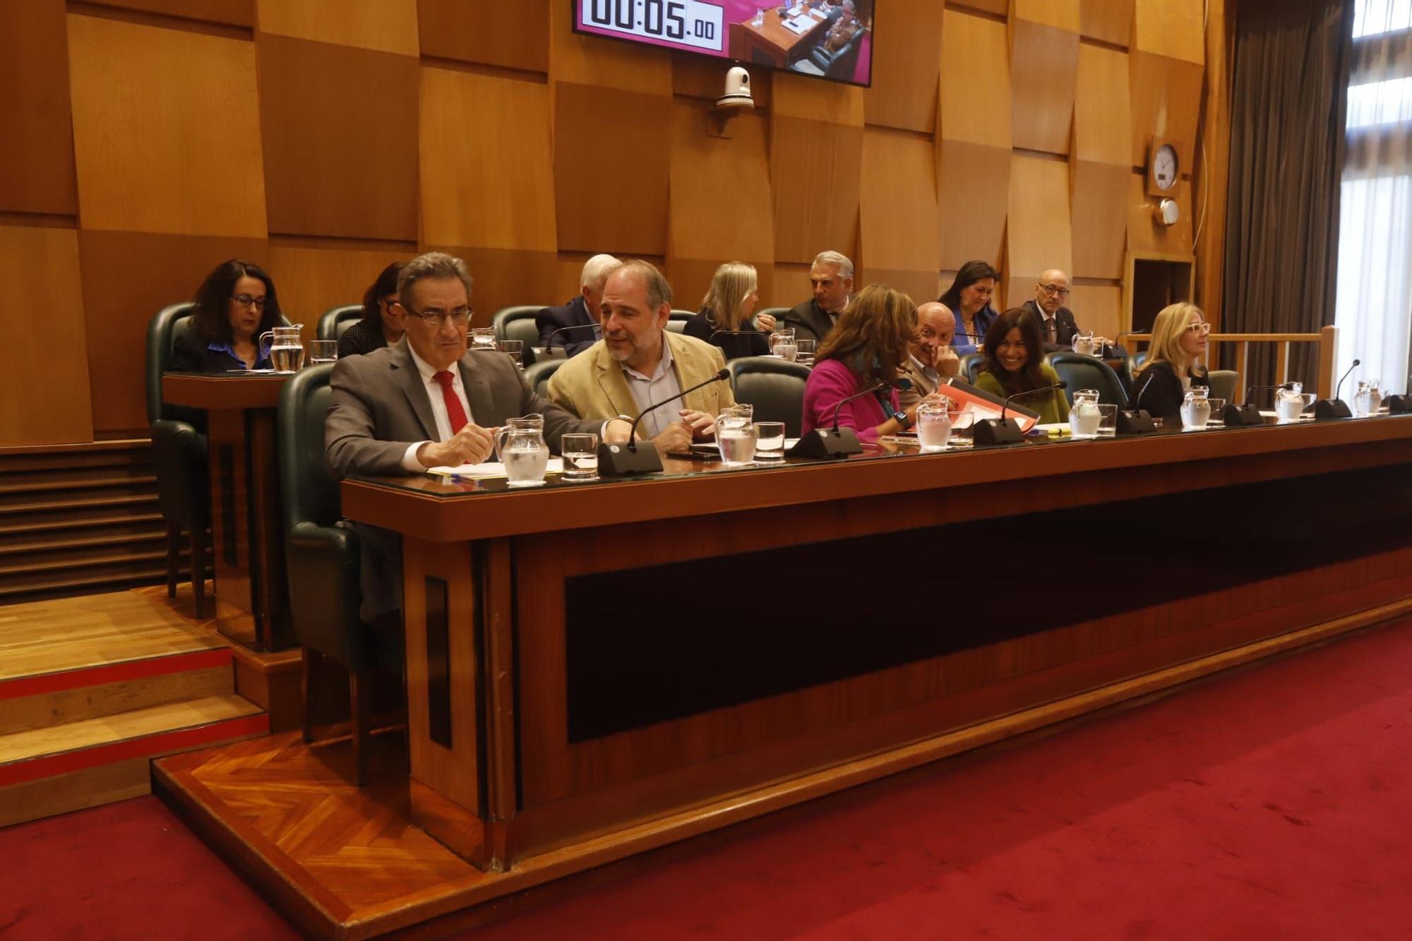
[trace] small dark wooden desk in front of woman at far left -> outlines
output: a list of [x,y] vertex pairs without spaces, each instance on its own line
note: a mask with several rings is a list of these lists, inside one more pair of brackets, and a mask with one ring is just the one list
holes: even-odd
[[216,596],[254,622],[254,637],[217,617],[222,633],[257,650],[292,643],[275,413],[288,376],[167,373],[162,400],[205,408]]

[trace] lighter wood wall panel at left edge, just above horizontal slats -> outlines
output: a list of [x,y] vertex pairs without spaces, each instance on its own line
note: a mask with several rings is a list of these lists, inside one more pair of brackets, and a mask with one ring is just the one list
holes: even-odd
[[42,298],[42,315],[6,318],[0,446],[92,441],[78,233],[0,226],[0,284]]

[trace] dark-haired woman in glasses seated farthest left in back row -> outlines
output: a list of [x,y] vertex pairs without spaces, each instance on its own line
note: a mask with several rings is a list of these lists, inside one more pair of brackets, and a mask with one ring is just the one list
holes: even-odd
[[171,367],[186,373],[268,369],[260,335],[280,322],[280,298],[270,276],[258,264],[232,259],[196,291],[192,329],[172,350]]

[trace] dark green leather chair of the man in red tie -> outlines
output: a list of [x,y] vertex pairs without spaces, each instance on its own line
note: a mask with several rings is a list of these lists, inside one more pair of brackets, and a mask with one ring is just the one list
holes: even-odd
[[284,499],[289,612],[304,649],[304,740],[313,740],[315,682],[325,657],[347,668],[353,767],[367,780],[373,682],[378,664],[401,675],[400,632],[376,630],[359,617],[359,537],[336,526],[339,482],[323,459],[333,365],[306,366],[280,391],[280,487]]

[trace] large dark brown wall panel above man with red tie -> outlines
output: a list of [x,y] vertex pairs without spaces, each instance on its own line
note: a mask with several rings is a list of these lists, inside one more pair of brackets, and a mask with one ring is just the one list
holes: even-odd
[[256,49],[270,230],[417,239],[417,59],[273,34]]

